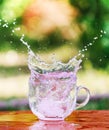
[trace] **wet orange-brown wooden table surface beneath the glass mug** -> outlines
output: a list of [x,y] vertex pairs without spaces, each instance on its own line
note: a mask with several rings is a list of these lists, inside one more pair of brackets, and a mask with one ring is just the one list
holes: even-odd
[[31,111],[0,112],[0,130],[109,130],[109,111],[77,110],[64,121],[41,121]]

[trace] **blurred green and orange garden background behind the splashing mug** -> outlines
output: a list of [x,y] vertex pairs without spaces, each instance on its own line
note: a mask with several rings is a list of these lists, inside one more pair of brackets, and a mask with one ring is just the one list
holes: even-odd
[[47,61],[55,54],[68,62],[81,50],[85,57],[78,85],[91,92],[82,109],[109,109],[108,5],[109,0],[0,0],[0,110],[29,109],[30,72],[22,34]]

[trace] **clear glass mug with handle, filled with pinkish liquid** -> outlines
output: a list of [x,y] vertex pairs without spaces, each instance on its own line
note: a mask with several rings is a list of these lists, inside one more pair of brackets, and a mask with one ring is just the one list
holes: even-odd
[[[64,120],[75,109],[85,106],[90,97],[87,88],[76,85],[74,72],[38,73],[31,69],[29,78],[29,105],[41,120]],[[80,90],[86,91],[86,98],[77,103]]]

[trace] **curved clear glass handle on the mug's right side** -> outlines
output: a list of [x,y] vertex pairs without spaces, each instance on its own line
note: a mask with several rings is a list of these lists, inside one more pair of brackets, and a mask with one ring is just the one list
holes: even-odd
[[77,86],[76,96],[78,95],[78,93],[79,93],[79,91],[81,89],[84,89],[86,91],[87,97],[82,103],[76,103],[76,109],[85,106],[88,103],[89,99],[90,99],[90,91],[86,87],[82,87],[82,86]]

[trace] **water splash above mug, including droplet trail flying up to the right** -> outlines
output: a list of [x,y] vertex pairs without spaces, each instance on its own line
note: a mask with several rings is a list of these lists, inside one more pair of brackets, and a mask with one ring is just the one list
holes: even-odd
[[77,71],[81,68],[80,64],[83,61],[83,58],[88,59],[85,57],[85,52],[88,51],[88,48],[92,46],[96,40],[98,40],[101,35],[106,34],[105,31],[101,30],[99,36],[95,36],[93,38],[93,42],[88,43],[82,50],[79,51],[79,53],[70,59],[68,63],[62,63],[61,61],[56,61],[55,54],[52,56],[52,63],[46,63],[44,62],[38,54],[35,54],[31,48],[30,45],[24,41],[24,34],[22,35],[20,41],[28,48],[28,66],[30,70],[35,70],[38,73],[47,73],[47,72],[74,72],[77,73]]

